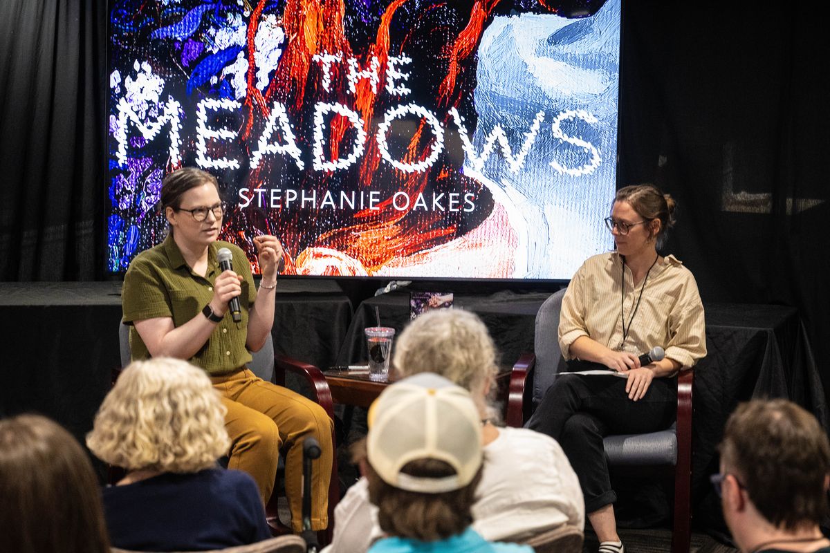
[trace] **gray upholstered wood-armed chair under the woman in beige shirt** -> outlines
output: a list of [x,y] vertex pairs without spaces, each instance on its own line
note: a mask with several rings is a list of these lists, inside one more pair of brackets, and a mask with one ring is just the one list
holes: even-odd
[[[562,308],[561,289],[544,301],[536,314],[535,353],[522,355],[510,376],[506,424],[519,427],[566,367],[557,330]],[[682,371],[677,381],[677,420],[670,429],[651,434],[611,435],[603,440],[608,465],[674,468],[675,501],[672,553],[688,553],[691,540],[691,385],[694,372]]]

